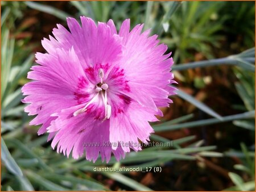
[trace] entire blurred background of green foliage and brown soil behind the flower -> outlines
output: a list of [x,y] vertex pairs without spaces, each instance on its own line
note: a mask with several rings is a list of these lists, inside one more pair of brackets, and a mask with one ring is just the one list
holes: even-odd
[[[1,190],[255,190],[254,2],[1,1]],[[57,154],[23,112],[20,87],[67,16],[145,23],[168,45],[179,82],[147,147],[95,164]],[[94,172],[160,166],[162,172]]]

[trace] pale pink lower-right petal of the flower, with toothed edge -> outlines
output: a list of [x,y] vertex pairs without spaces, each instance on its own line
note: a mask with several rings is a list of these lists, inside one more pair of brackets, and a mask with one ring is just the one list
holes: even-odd
[[[130,152],[130,148],[139,151],[141,147],[138,139],[147,143],[150,133],[154,132],[148,121],[157,120],[154,114],[144,110],[138,103],[131,102],[125,113],[110,118],[110,143],[120,143],[125,152]],[[116,149],[114,146],[112,148]]]

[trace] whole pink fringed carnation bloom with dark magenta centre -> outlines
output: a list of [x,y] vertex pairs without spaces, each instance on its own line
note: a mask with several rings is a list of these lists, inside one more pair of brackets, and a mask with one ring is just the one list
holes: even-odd
[[73,158],[86,153],[95,162],[111,153],[119,161],[125,152],[141,150],[139,140],[154,132],[148,122],[162,116],[158,107],[175,94],[171,53],[167,46],[142,33],[143,24],[130,31],[126,19],[117,33],[113,20],[96,25],[92,19],[67,19],[70,32],[57,24],[42,40],[48,53],[36,53],[36,62],[22,87],[31,125],[42,124],[38,135],[49,132],[52,148]]

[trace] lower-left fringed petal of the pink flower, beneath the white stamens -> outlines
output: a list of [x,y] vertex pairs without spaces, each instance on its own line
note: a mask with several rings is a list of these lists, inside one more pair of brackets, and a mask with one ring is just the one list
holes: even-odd
[[87,112],[73,116],[73,112],[79,107],[81,105],[67,108],[57,114],[57,119],[52,122],[50,128],[57,130],[52,148],[57,145],[57,152],[63,152],[67,156],[73,149],[73,158],[79,158],[86,151],[86,159],[93,162],[99,154],[102,161],[106,159],[106,162],[110,160],[112,152],[117,160],[124,156],[121,147],[113,151],[109,144],[109,120],[101,122],[94,118],[93,113]]

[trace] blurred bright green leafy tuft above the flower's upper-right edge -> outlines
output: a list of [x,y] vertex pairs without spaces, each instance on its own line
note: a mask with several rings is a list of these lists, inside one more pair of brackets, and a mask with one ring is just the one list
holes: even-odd
[[162,39],[170,49],[175,49],[175,61],[193,60],[193,52],[199,52],[212,59],[211,46],[220,47],[221,36],[217,32],[223,27],[225,16],[218,11],[223,2],[182,2],[172,16],[170,37]]

